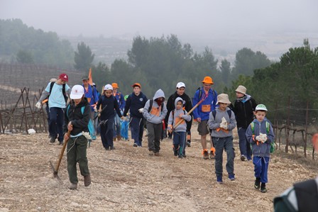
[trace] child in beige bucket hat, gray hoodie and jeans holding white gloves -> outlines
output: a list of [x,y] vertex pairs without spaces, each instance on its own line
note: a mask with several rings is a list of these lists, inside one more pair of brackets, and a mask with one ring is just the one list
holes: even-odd
[[215,174],[216,182],[223,183],[223,150],[226,152],[227,162],[226,171],[229,174],[229,180],[235,180],[234,174],[234,148],[233,132],[236,127],[234,112],[228,108],[231,101],[227,94],[219,94],[217,102],[219,108],[209,114],[208,125],[212,129],[212,140],[215,146]]

